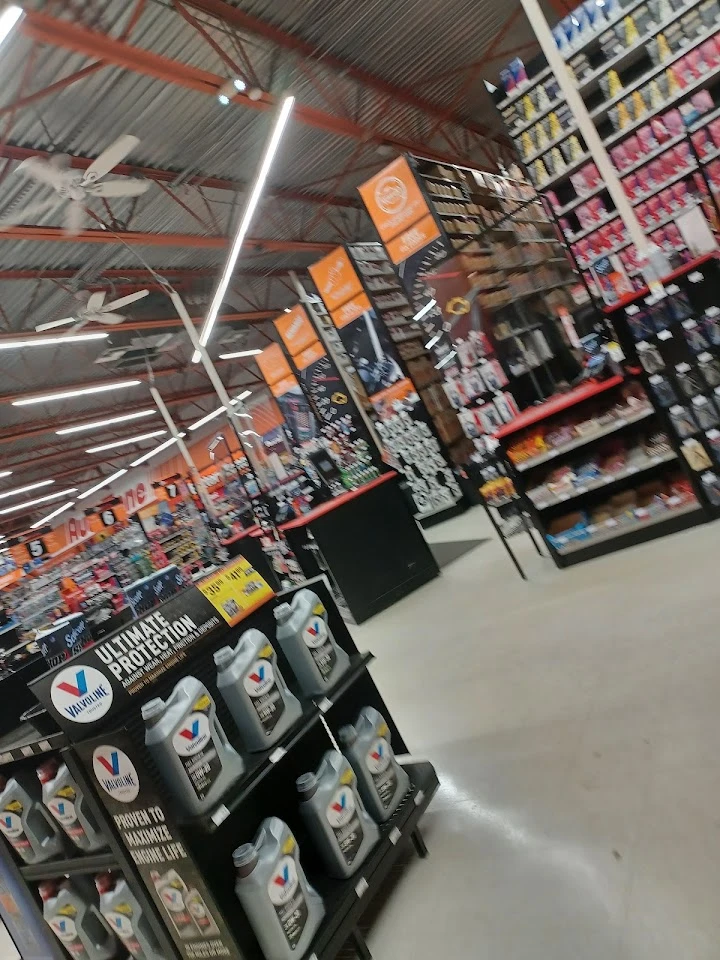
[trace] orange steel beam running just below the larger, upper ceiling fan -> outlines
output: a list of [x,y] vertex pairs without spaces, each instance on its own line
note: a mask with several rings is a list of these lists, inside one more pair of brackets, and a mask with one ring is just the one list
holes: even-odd
[[[78,234],[65,233],[61,227],[8,227],[0,232],[0,240],[45,240],[55,243],[117,243],[118,237],[131,246],[146,247],[205,247],[224,250],[227,237],[203,237],[192,233],[139,233],[135,230],[81,230]],[[246,240],[249,248],[281,250],[297,253],[329,253],[336,243],[314,240],[267,240],[262,237]],[[158,270],[162,273],[162,270]]]

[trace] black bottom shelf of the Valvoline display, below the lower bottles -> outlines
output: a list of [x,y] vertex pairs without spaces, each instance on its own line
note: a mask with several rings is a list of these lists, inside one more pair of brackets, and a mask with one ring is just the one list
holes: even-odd
[[325,904],[325,919],[305,960],[333,960],[337,956],[395,865],[404,841],[412,839],[418,852],[425,854],[422,838],[413,834],[440,783],[430,763],[404,766],[411,789],[393,817],[380,826],[380,842],[362,867],[347,880],[316,883]]

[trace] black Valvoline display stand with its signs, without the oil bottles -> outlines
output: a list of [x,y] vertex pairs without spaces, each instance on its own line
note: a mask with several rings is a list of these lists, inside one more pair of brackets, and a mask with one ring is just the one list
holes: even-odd
[[[73,863],[81,859],[97,861],[87,862],[83,866],[86,871],[119,867],[130,875],[133,890],[142,895],[143,902],[152,904],[149,912],[162,927],[161,942],[168,957],[261,960],[260,947],[235,896],[232,851],[254,839],[263,819],[277,816],[295,834],[301,863],[325,905],[324,920],[306,960],[330,960],[348,940],[358,956],[369,957],[358,921],[403,845],[412,843],[425,855],[419,821],[439,784],[430,763],[407,762],[411,789],[392,818],[380,827],[376,847],[349,879],[331,880],[326,875],[299,815],[296,778],[317,769],[323,754],[335,746],[339,728],[353,723],[366,706],[375,707],[387,721],[395,752],[405,754],[407,747],[368,671],[372,655],[358,651],[325,581],[318,578],[308,586],[325,604],[330,630],[349,654],[350,665],[325,696],[302,700],[300,719],[264,753],[243,750],[217,690],[213,653],[221,646],[234,645],[249,628],[274,640],[273,608],[290,600],[295,590],[278,598],[268,596],[240,622],[229,615],[232,607],[227,592],[213,597],[191,587],[127,630],[84,651],[71,665],[36,681],[35,694],[63,731],[54,740],[48,738],[48,747],[52,749],[65,738],[71,742],[65,751],[68,764],[92,795],[93,804],[102,807],[99,817],[112,842],[110,852],[101,857],[44,864],[40,874],[35,867],[21,868],[21,872],[32,878],[55,876],[68,872],[68,867],[74,869]],[[153,648],[159,652],[161,641],[166,644],[164,652],[152,656]],[[299,695],[279,646],[276,652],[285,679]],[[145,747],[140,716],[144,703],[154,697],[167,699],[177,681],[186,676],[196,677],[207,687],[219,722],[245,761],[243,776],[229,786],[213,809],[195,817],[183,814],[174,792],[162,780]],[[87,694],[81,697],[84,686]],[[58,695],[58,689],[63,695]],[[199,923],[185,928],[171,921],[167,904],[178,891],[180,896],[184,893],[192,898]]]

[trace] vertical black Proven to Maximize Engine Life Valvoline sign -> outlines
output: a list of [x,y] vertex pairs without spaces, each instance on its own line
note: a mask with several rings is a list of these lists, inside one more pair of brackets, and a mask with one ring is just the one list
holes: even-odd
[[242,960],[223,916],[183,839],[166,815],[142,757],[125,733],[78,747],[160,919],[185,960]]

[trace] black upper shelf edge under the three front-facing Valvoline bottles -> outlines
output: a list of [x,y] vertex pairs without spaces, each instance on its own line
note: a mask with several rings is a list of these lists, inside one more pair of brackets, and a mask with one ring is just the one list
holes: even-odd
[[375,657],[371,653],[354,654],[350,658],[350,667],[343,674],[342,679],[328,691],[327,696],[310,704],[282,741],[276,743],[272,750],[248,755],[251,765],[246,768],[245,776],[232,785],[231,796],[224,797],[223,802],[206,817],[193,817],[189,820],[180,820],[179,823],[190,829],[214,833],[229,816],[242,806],[257,785],[282,761],[283,757],[302,740],[309,730],[312,730],[320,722],[320,718],[332,707],[333,702],[343,696],[353,683],[363,676],[374,659]]

